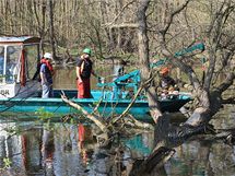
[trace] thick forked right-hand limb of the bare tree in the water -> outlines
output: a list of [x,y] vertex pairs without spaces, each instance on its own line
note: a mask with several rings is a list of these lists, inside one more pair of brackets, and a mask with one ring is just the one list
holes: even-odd
[[[188,2],[189,1],[186,1],[185,5],[187,5]],[[177,9],[173,13],[168,14],[168,21],[166,25],[163,28],[158,30],[157,33],[163,55],[167,58],[171,58],[173,63],[176,67],[179,67],[188,75],[193,87],[193,94],[199,101],[198,107],[195,109],[191,118],[186,121],[186,124],[190,126],[207,124],[211,119],[211,117],[219,112],[222,103],[222,93],[233,84],[234,80],[234,66],[227,67],[227,64],[224,64],[224,68],[227,67],[227,69],[231,70],[227,74],[227,78],[221,85],[214,86],[213,89],[211,87],[213,77],[215,75],[214,71],[219,61],[218,59],[220,58],[219,54],[222,51],[224,62],[227,63],[234,55],[234,46],[231,43],[231,39],[225,39],[227,37],[225,37],[226,33],[224,33],[226,31],[226,28],[224,28],[226,26],[226,22],[233,14],[234,4],[231,1],[223,1],[220,5],[221,8],[218,9],[218,12],[214,14],[214,17],[212,19],[208,31],[209,43],[207,45],[207,50],[209,57],[209,67],[203,82],[200,82],[200,79],[193,68],[191,68],[189,64],[187,64],[186,61],[184,61],[184,57],[181,59],[175,58],[172,55],[173,52],[167,47],[167,32],[173,23],[175,15],[183,9]],[[230,34],[232,35],[230,37],[233,38],[234,34]]]

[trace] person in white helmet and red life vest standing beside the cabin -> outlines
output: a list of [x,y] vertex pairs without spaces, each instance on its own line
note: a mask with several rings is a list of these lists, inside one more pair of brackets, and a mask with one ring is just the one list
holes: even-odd
[[40,83],[43,87],[42,93],[43,98],[54,97],[52,90],[54,69],[49,59],[52,59],[52,55],[49,52],[46,52],[44,57],[40,59]]

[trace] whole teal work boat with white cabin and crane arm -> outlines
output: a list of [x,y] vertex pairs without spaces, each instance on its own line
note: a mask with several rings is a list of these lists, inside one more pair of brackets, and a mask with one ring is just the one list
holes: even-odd
[[[181,52],[202,50],[203,45],[198,44]],[[40,98],[40,84],[35,77],[36,64],[40,56],[40,38],[32,36],[0,37],[0,112],[30,113],[38,110],[49,112],[55,115],[74,114],[78,109],[69,106],[61,97],[62,90],[55,90],[54,98]],[[181,54],[181,55],[183,55]],[[2,56],[1,56],[2,55]],[[165,62],[160,60],[151,67]],[[131,80],[127,82],[127,80]],[[140,71],[134,70],[128,74],[117,78],[110,83],[98,83],[103,89],[92,91],[93,98],[77,98],[77,90],[63,90],[64,94],[74,103],[82,106],[89,113],[98,104],[99,114],[110,116],[121,114],[131,103],[132,95],[137,93],[140,85]],[[102,91],[110,86],[113,91]],[[125,91],[122,87],[126,87]],[[128,91],[127,91],[128,90]],[[162,112],[178,112],[186,103],[191,101],[187,93],[179,93],[167,99],[160,99]],[[149,105],[144,95],[138,96],[129,114],[139,117],[149,115]]]

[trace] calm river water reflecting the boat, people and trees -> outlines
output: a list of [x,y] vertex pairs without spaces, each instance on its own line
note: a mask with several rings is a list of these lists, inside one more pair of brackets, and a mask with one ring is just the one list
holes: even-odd
[[[77,87],[74,69],[57,70],[55,80],[55,87]],[[234,106],[225,106],[211,124],[216,129],[234,128]],[[2,120],[0,175],[127,175],[133,161],[146,157],[154,148],[153,132],[142,132],[120,138],[111,149],[99,149],[92,137],[94,130],[87,124]],[[223,141],[191,139],[175,150],[158,175],[235,175],[235,146]]]

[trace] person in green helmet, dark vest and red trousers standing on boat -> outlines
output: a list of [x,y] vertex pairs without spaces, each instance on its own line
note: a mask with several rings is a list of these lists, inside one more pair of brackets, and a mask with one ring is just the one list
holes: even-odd
[[90,48],[83,49],[83,55],[78,59],[77,63],[77,84],[78,84],[78,98],[92,98],[91,94],[91,74],[93,71],[93,62],[91,60],[92,50]]

